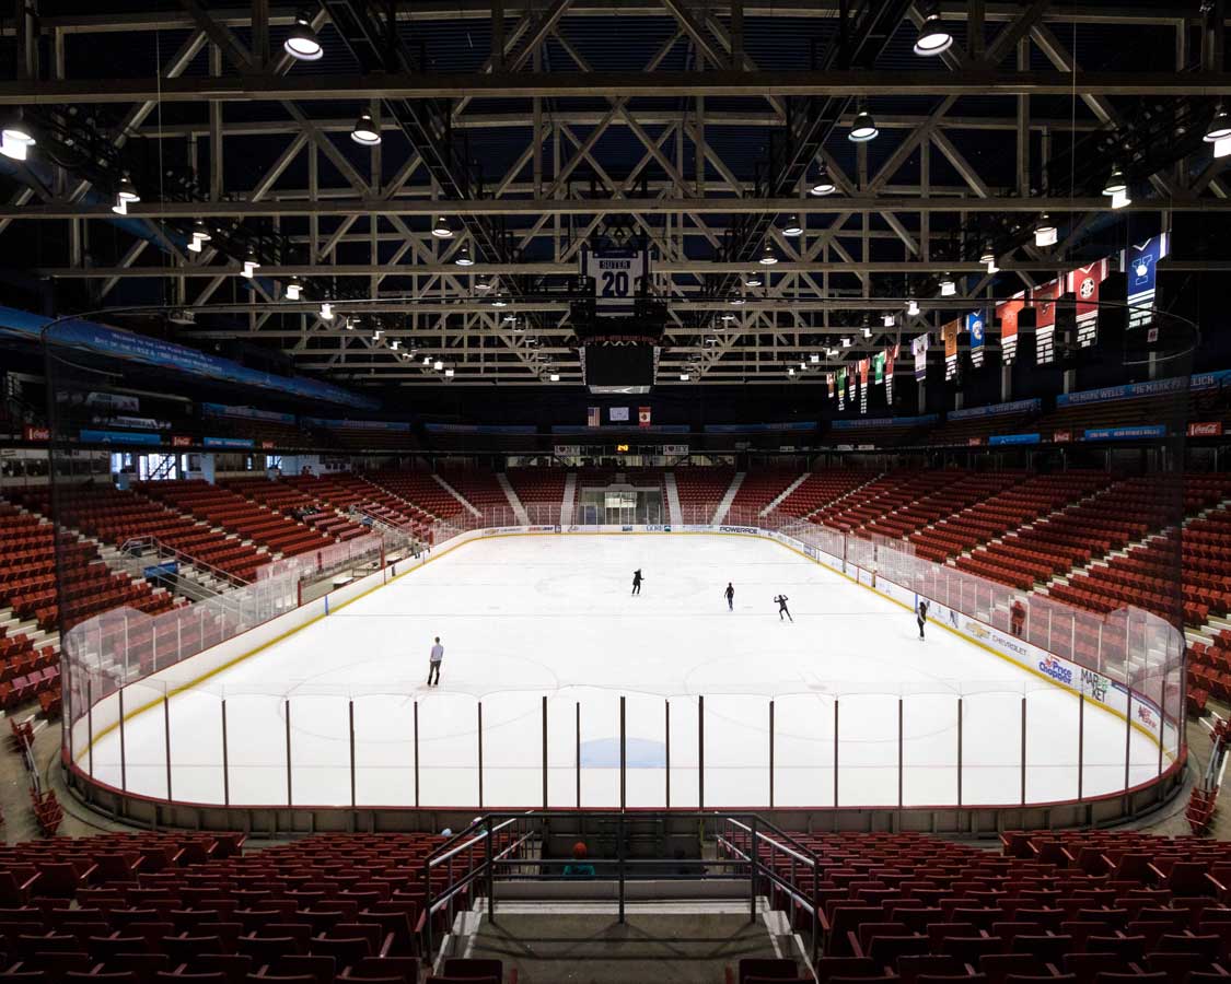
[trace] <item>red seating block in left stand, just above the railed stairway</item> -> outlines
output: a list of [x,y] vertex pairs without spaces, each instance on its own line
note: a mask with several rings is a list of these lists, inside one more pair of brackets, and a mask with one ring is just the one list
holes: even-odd
[[[49,514],[46,490],[27,493],[25,502]],[[137,492],[111,486],[62,490],[58,504],[64,525],[113,546],[123,546],[137,536],[153,536],[202,567],[217,567],[244,581],[252,581],[256,568],[270,562],[268,554],[234,535],[218,533],[207,523],[188,519]]]

